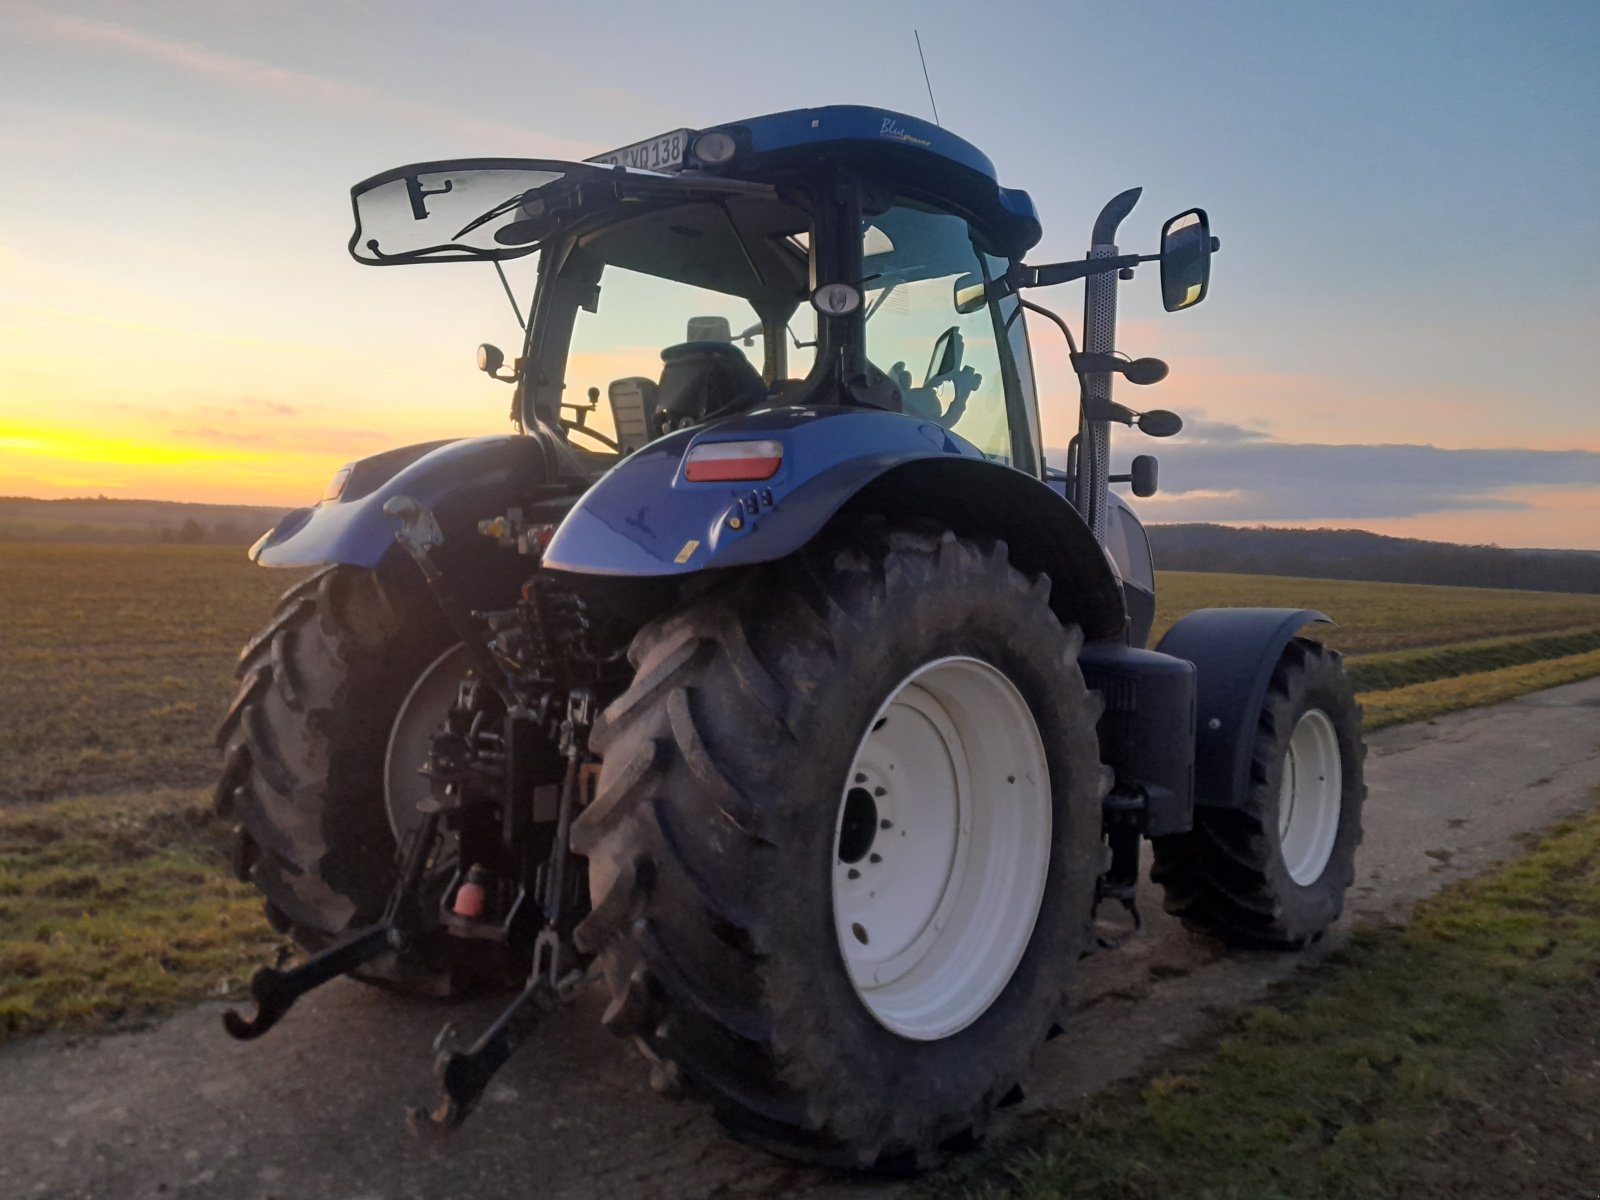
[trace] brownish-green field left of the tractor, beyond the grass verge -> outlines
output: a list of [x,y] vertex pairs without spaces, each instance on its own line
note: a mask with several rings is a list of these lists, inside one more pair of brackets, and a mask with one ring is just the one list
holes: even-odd
[[0,546],[0,805],[197,787],[234,662],[301,573],[202,546]]

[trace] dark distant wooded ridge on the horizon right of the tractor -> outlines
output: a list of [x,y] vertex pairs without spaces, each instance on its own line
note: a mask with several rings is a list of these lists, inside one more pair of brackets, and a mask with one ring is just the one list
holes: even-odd
[[1600,592],[1600,550],[1509,550],[1365,530],[1152,525],[1157,570],[1294,574],[1448,587]]

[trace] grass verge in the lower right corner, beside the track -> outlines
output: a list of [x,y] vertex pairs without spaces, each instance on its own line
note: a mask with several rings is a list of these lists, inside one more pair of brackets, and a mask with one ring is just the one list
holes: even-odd
[[[925,1190],[989,1200],[1509,1195],[1506,1173],[1525,1170],[1531,1190],[1515,1194],[1576,1195],[1573,1163],[1594,1160],[1600,1134],[1597,971],[1600,813],[1426,901],[1403,926],[1363,926],[1322,968],[1230,1018],[1214,1043],[1078,1112],[1034,1118],[1011,1144]],[[1576,1035],[1587,1072],[1554,1090],[1541,1072],[1507,1098],[1507,1080],[1552,1032]],[[1518,1163],[1494,1138],[1472,1136],[1530,1104],[1539,1114],[1531,1136],[1565,1158]],[[1571,1128],[1552,1130],[1563,1115]],[[1464,1192],[1451,1190],[1451,1174]]]

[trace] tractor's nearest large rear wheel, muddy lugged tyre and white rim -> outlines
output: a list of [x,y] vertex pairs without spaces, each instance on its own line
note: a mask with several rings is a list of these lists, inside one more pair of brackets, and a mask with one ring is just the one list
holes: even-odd
[[576,936],[658,1086],[878,1170],[1018,1094],[1102,861],[1082,635],[1046,598],[1003,544],[874,528],[638,634],[573,829]]

